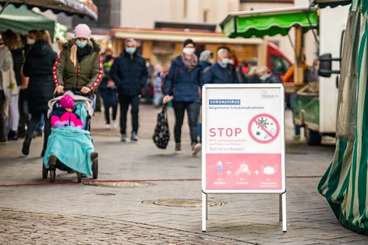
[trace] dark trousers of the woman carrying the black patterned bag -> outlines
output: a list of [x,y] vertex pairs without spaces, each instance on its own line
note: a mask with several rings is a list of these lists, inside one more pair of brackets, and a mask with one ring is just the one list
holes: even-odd
[[185,110],[188,115],[190,139],[192,144],[198,143],[197,120],[199,117],[200,104],[197,102],[174,101],[175,112],[175,142],[180,143],[182,137],[182,126],[184,121]]

